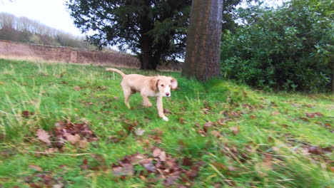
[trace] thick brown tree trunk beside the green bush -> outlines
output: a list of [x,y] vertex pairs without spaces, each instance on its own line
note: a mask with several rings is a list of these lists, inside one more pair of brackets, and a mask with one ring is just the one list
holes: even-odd
[[198,80],[221,75],[223,0],[193,0],[182,74]]

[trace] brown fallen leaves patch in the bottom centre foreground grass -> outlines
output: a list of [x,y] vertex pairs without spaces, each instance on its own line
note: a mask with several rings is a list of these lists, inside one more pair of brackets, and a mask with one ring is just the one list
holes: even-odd
[[[98,166],[91,167],[93,162],[84,159],[81,169],[107,171],[108,168],[111,169],[115,177],[120,179],[138,177],[146,182],[162,181],[164,186],[176,185],[178,181],[192,184],[193,179],[198,176],[198,171],[204,165],[204,162],[194,162],[188,157],[172,157],[160,147],[151,147],[151,152],[145,155],[138,152],[126,155],[118,162],[111,164],[110,167],[106,167],[103,157],[96,161],[98,161]],[[138,168],[139,166],[142,168]]]

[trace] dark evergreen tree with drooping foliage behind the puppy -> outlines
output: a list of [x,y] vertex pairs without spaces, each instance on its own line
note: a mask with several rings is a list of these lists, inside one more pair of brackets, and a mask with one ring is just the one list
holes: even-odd
[[69,0],[66,3],[81,31],[95,31],[97,46],[131,49],[141,68],[156,69],[161,59],[183,58],[191,0]]

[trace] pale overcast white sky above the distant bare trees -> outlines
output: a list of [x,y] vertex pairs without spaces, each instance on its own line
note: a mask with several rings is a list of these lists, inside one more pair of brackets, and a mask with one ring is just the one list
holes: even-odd
[[64,5],[66,0],[0,0],[0,12],[25,16],[46,26],[83,36],[73,23]]

